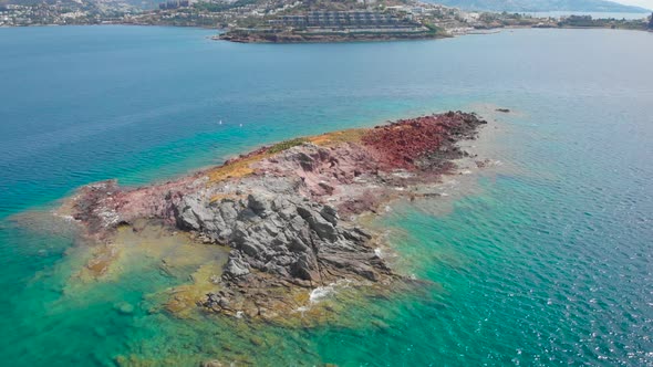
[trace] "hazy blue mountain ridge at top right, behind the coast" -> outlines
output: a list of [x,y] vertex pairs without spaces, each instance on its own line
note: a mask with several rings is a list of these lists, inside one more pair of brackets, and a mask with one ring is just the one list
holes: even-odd
[[[424,0],[423,0],[424,1]],[[463,10],[508,12],[588,11],[644,13],[651,10],[604,0],[426,0]]]

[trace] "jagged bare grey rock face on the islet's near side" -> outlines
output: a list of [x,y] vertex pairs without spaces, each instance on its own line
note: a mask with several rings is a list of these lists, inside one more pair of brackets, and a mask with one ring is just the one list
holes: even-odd
[[259,192],[213,202],[190,195],[176,208],[179,228],[232,248],[222,274],[227,281],[251,276],[256,270],[319,286],[341,276],[375,281],[380,271],[387,273],[366,243],[370,234],[341,224],[333,207],[299,195]]

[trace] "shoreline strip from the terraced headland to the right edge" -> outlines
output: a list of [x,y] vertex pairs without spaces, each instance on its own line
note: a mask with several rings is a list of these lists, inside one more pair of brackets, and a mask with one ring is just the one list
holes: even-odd
[[240,43],[315,43],[429,40],[465,34],[495,33],[502,29],[519,28],[642,31],[653,28],[653,21],[644,20],[644,18],[635,20],[625,18],[594,19],[591,15],[533,18],[505,13],[484,13],[474,21],[467,22],[466,27],[458,23],[455,27],[453,24],[429,22],[428,18],[421,20],[400,19],[395,15],[371,11],[314,11],[269,20],[267,24],[261,27],[230,28],[214,39]]

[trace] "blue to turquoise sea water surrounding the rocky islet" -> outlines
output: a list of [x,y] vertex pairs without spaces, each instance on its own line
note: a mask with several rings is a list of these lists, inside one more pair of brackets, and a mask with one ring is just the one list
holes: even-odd
[[[2,365],[653,366],[653,33],[211,34],[0,29]],[[173,316],[162,294],[197,266],[162,271],[152,253],[175,259],[174,244],[135,243],[145,254],[87,280],[87,244],[48,220],[84,184],[166,180],[261,144],[447,109],[489,119],[495,165],[375,220],[384,255],[428,285],[343,300],[318,326]]]

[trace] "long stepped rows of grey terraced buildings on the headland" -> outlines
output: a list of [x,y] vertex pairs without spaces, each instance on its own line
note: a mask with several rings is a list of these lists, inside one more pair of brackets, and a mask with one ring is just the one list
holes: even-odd
[[268,21],[272,27],[292,28],[355,28],[411,25],[393,14],[376,11],[310,11],[304,14],[282,15]]

